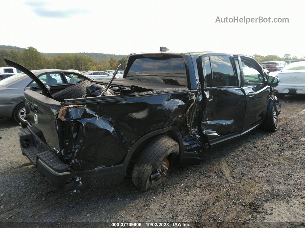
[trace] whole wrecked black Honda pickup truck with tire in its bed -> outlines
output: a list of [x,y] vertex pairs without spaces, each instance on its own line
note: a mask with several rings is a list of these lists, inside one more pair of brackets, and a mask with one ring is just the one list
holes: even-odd
[[278,129],[278,78],[253,58],[216,52],[131,54],[124,77],[27,90],[22,154],[61,190],[132,177],[140,190],[160,184],[174,164],[262,126]]

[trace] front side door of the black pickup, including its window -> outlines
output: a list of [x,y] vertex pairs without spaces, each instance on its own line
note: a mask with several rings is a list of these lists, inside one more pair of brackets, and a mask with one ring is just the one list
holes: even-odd
[[253,58],[238,55],[242,78],[242,89],[246,95],[246,113],[243,131],[247,131],[263,121],[267,112],[270,86],[266,85],[263,68]]

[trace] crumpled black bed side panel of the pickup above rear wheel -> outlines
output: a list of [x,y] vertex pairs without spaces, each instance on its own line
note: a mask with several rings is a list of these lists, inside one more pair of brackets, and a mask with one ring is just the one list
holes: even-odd
[[[123,163],[129,148],[146,133],[176,126],[188,132],[189,92],[131,97],[104,103],[65,106],[59,111],[76,170]],[[72,148],[73,147],[73,148]]]

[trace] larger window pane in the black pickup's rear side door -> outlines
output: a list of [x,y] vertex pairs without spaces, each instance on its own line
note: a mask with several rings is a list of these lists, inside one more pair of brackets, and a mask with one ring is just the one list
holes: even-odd
[[213,87],[237,86],[230,56],[210,56]]

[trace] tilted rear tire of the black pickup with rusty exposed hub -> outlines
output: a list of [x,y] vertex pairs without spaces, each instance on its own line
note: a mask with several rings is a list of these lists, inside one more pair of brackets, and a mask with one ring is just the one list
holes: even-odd
[[[135,163],[132,170],[132,182],[141,191],[147,191],[160,184],[170,173],[178,153],[177,142],[166,135],[157,136],[145,147]],[[162,167],[163,165],[166,168]],[[156,171],[158,168],[162,170],[160,174]],[[165,175],[162,175],[164,173]],[[156,177],[155,180],[151,179],[152,174]]]

